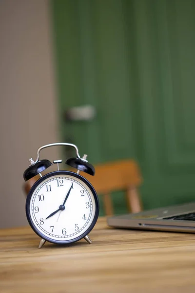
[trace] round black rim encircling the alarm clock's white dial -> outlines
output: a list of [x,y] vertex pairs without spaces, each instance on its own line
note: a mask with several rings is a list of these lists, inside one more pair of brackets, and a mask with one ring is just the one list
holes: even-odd
[[[95,200],[95,206],[96,206],[96,211],[95,211],[95,215],[94,215],[94,219],[91,223],[91,225],[89,226],[89,228],[83,232],[81,235],[79,235],[78,237],[74,238],[74,239],[69,239],[69,240],[64,240],[64,241],[60,241],[60,240],[54,240],[54,239],[51,239],[47,236],[45,236],[44,234],[42,234],[40,232],[40,230],[38,230],[37,226],[33,223],[32,221],[32,218],[31,218],[31,215],[30,215],[30,201],[31,201],[31,197],[33,195],[33,192],[34,190],[39,186],[39,184],[44,181],[45,179],[49,178],[49,177],[52,177],[52,176],[59,176],[59,175],[70,175],[70,176],[73,176],[75,178],[78,178],[80,179],[81,181],[83,181],[87,186],[88,188],[90,188],[93,196],[94,196],[94,200]],[[42,176],[41,178],[39,178],[38,181],[35,182],[35,184],[32,186],[32,188],[30,189],[28,195],[27,195],[27,198],[26,198],[26,217],[27,217],[27,220],[28,220],[28,223],[29,225],[31,226],[31,228],[34,230],[34,232],[39,236],[41,237],[42,239],[45,239],[46,241],[48,242],[51,242],[51,243],[55,243],[55,244],[61,244],[61,245],[65,245],[65,244],[70,244],[70,243],[74,243],[74,242],[77,242],[79,241],[80,239],[84,238],[86,235],[88,235],[91,230],[94,228],[97,220],[98,220],[98,215],[99,215],[99,200],[98,200],[98,194],[96,192],[96,190],[94,189],[94,187],[91,185],[91,183],[86,179],[84,178],[83,176],[81,176],[80,174],[77,174],[75,172],[72,172],[72,171],[66,171],[66,170],[59,170],[59,171],[53,171],[53,172],[50,172],[44,176]]]

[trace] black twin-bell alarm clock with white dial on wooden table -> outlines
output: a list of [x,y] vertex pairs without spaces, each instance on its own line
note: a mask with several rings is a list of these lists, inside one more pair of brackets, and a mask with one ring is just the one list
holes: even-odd
[[[66,164],[77,172],[59,170],[62,160],[53,161],[57,170],[42,175],[52,166],[49,160],[39,160],[42,149],[51,146],[70,146],[77,157],[69,158]],[[37,160],[30,159],[30,166],[24,171],[27,181],[39,174],[40,178],[30,189],[26,198],[26,216],[31,228],[41,237],[39,248],[46,241],[55,244],[70,244],[84,238],[89,244],[89,232],[94,228],[99,214],[98,195],[90,182],[80,171],[92,176],[95,168],[88,163],[87,155],[79,156],[78,147],[68,143],[54,143],[39,147]]]

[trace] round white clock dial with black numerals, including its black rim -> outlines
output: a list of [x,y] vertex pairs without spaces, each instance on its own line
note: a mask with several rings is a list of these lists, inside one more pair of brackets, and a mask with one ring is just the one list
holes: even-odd
[[40,178],[26,200],[32,229],[43,239],[70,243],[87,235],[98,219],[98,196],[91,184],[70,171]]

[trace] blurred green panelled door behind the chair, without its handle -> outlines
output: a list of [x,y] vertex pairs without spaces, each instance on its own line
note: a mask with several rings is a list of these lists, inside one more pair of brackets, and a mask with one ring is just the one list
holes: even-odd
[[[92,164],[137,160],[145,209],[193,201],[195,1],[51,3],[62,140]],[[83,105],[93,120],[65,119]]]

